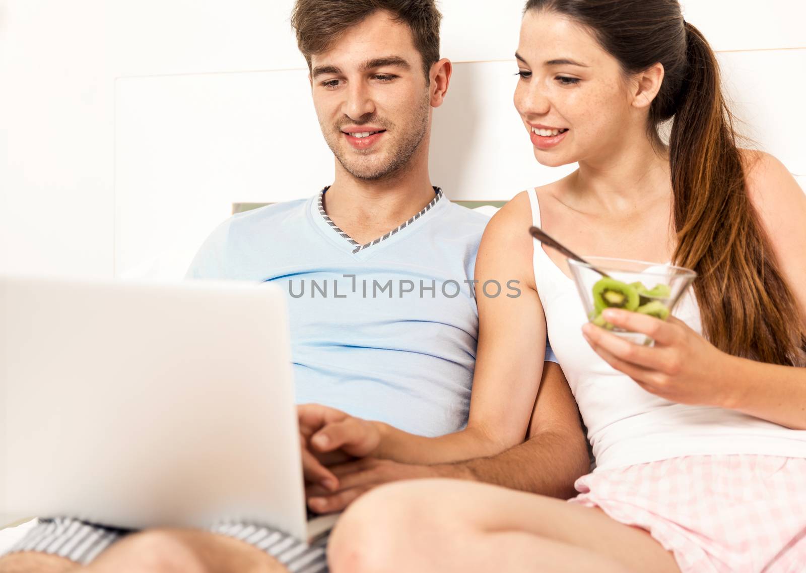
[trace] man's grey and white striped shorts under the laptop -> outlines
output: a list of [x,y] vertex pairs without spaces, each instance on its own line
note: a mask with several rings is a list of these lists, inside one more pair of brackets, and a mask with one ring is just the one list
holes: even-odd
[[[289,573],[327,571],[327,537],[305,546],[297,538],[262,525],[222,521],[208,530],[239,539],[264,551],[283,564]],[[114,542],[131,533],[131,529],[113,529],[70,517],[40,519],[8,553],[35,551],[86,565]]]

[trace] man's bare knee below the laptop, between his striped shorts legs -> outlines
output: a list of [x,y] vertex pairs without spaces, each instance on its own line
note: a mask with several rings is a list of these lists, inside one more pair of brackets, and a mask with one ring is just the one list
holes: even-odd
[[[270,555],[225,535],[193,529],[131,534],[81,573],[286,573]],[[0,571],[0,573],[5,573]]]

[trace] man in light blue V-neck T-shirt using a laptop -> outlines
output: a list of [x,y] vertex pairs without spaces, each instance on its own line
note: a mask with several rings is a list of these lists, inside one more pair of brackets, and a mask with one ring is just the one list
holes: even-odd
[[[439,59],[439,19],[433,0],[298,0],[293,25],[335,156],[333,185],[308,200],[230,218],[189,271],[193,278],[265,280],[289,289],[300,402],[431,437],[467,422],[478,336],[472,277],[487,222],[452,205],[428,175],[431,114],[451,79],[451,63]],[[542,368],[543,349],[534,353]],[[551,392],[564,384],[559,367],[544,376]],[[530,400],[529,411],[534,394]],[[554,402],[540,403],[550,409]],[[563,413],[571,426],[575,415]],[[493,455],[502,445],[476,436],[456,451]],[[455,455],[445,451],[437,461]],[[405,477],[403,467],[395,475]],[[575,478],[574,468],[563,469],[546,478],[555,489]],[[319,487],[339,487],[329,471],[320,467],[318,475]],[[97,573],[326,567],[321,546],[306,549],[247,524],[131,534],[46,520],[16,549],[0,559],[0,572],[69,571],[87,563],[85,571]]]

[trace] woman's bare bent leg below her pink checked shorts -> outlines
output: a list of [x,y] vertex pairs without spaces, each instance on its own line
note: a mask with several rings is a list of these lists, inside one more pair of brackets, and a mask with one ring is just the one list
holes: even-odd
[[649,534],[600,510],[455,480],[369,493],[339,521],[329,554],[333,573],[679,573]]

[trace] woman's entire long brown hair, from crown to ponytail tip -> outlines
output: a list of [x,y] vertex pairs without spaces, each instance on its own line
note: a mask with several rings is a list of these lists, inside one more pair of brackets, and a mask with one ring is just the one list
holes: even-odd
[[672,119],[669,139],[673,260],[698,273],[703,332],[736,356],[806,365],[800,309],[747,193],[742,156],[708,41],[683,20],[677,0],[529,0],[584,24],[625,73],[663,64],[650,136]]

